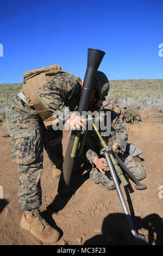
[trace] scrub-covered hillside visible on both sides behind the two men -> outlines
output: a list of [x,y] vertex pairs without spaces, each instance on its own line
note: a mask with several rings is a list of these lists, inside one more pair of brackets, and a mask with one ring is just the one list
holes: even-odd
[[[0,119],[5,113],[12,97],[22,88],[22,83],[0,84]],[[136,109],[163,108],[163,79],[157,80],[111,80],[106,103]]]

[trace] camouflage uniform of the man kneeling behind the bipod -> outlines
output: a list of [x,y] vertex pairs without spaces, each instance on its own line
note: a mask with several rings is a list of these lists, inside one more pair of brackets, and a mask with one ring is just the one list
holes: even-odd
[[[118,156],[129,168],[130,172],[135,175],[138,180],[142,180],[146,177],[145,168],[142,166],[142,161],[139,158],[139,154],[142,153],[141,150],[137,149],[133,144],[129,144],[128,141],[128,131],[126,124],[122,121],[118,114],[108,109],[111,112],[111,134],[109,137],[105,137],[105,141],[110,144],[117,144],[120,153]],[[99,170],[93,164],[93,159],[95,157],[103,157],[99,154],[100,147],[97,145],[97,135],[93,134],[93,131],[89,131],[89,135],[86,139],[85,154],[87,160],[92,164],[92,169],[90,172],[91,181],[96,184],[104,186],[108,190],[115,188],[114,182],[112,181],[110,172],[105,172],[105,174],[99,172]],[[135,154],[131,152],[134,149]],[[138,155],[136,155],[136,152]],[[130,153],[130,154],[129,154]],[[134,156],[135,155],[135,156]]]

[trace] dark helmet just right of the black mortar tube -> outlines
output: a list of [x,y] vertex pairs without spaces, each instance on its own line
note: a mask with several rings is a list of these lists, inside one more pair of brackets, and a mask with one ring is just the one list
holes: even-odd
[[95,80],[94,88],[97,90],[99,99],[104,100],[104,97],[109,92],[109,80],[106,77],[106,75],[101,71],[97,71],[97,73],[96,73],[96,80]]

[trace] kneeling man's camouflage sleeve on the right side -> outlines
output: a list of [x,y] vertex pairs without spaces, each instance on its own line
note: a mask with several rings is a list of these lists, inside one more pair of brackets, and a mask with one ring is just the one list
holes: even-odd
[[126,124],[123,122],[123,120],[117,116],[113,120],[114,129],[116,132],[116,139],[114,141],[114,144],[116,143],[122,151],[126,151],[127,141],[128,141],[128,131]]

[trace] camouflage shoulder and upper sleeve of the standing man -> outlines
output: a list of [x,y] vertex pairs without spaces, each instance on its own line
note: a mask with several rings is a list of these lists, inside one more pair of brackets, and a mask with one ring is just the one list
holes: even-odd
[[49,111],[61,111],[64,117],[66,106],[73,111],[78,105],[81,79],[67,73],[51,78],[51,81],[39,88],[37,95]]

